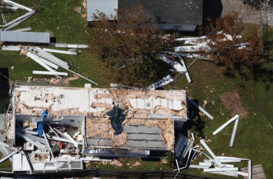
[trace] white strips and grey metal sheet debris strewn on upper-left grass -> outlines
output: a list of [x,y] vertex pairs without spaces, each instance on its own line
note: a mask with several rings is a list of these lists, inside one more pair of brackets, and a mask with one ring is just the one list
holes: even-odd
[[87,80],[90,83],[98,85],[97,83],[83,77],[82,75],[69,70],[69,66],[67,62],[48,53],[48,52],[51,52],[51,53],[61,53],[61,54],[68,54],[68,55],[77,55],[77,52],[76,52],[77,49],[79,48],[87,49],[89,48],[88,45],[50,43],[50,33],[24,32],[24,31],[31,30],[31,28],[29,27],[16,29],[13,31],[7,31],[8,29],[18,25],[20,22],[30,17],[31,15],[33,15],[35,11],[24,5],[20,5],[10,0],[3,0],[3,2],[7,5],[8,8],[14,9],[13,7],[17,7],[17,8],[28,10],[29,12],[21,17],[14,19],[13,21],[9,23],[5,23],[4,13],[1,11],[2,18],[5,24],[0,25],[0,42],[42,43],[42,44],[47,44],[49,46],[56,47],[56,48],[68,48],[69,51],[49,49],[49,48],[42,49],[40,47],[21,46],[21,45],[18,45],[18,46],[3,45],[2,50],[20,52],[21,54],[26,55],[29,58],[33,59],[35,62],[37,62],[38,64],[40,64],[42,67],[44,67],[47,70],[47,71],[33,71],[33,74],[35,75],[55,75],[58,78],[61,78],[60,76],[68,76],[68,73],[56,71],[59,69],[59,67],[61,67],[67,70],[68,72],[80,78],[83,78],[84,80]]

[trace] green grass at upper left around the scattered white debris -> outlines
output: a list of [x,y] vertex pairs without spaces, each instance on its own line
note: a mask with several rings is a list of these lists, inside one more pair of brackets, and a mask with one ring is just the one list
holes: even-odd
[[[32,7],[34,3],[39,4],[40,9],[36,14],[23,21],[13,29],[22,27],[32,27],[31,31],[35,32],[53,32],[57,43],[71,44],[88,44],[88,35],[85,33],[87,27],[86,17],[82,18],[81,14],[86,13],[82,10],[79,14],[74,11],[74,6],[82,6],[82,1],[78,0],[15,0],[16,2]],[[81,7],[81,9],[83,9]],[[26,11],[18,10],[6,15],[7,21],[10,21]],[[69,28],[69,27],[70,28]],[[1,48],[1,46],[0,46]],[[64,50],[64,49],[63,49]],[[98,87],[109,84],[108,73],[104,65],[95,58],[94,53],[90,50],[80,49],[77,56],[54,54],[56,57],[66,61],[70,70],[79,73],[90,80],[97,82]],[[50,76],[33,75],[33,70],[43,71],[43,67],[27,58],[24,55],[15,52],[0,51],[0,68],[9,68],[10,80],[17,81],[19,84],[27,81],[27,77],[35,78],[52,78]],[[14,70],[11,67],[14,66]],[[59,70],[64,71],[64,70]],[[69,74],[72,77],[71,74]],[[83,87],[85,80],[79,79],[73,81],[71,86]]]

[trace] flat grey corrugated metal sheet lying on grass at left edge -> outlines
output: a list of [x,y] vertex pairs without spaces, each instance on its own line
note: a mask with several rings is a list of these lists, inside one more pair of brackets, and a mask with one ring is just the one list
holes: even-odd
[[50,35],[47,32],[0,31],[0,41],[50,43]]

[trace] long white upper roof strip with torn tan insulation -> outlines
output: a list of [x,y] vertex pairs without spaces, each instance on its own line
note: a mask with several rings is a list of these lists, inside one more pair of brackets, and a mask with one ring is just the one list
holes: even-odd
[[[68,81],[74,80],[68,78]],[[59,83],[52,79],[51,84]],[[179,116],[187,119],[184,90],[127,90],[86,89],[58,87],[16,87],[16,113],[41,114],[48,109],[49,115],[102,116],[114,105],[125,110],[127,117],[148,118],[153,115]],[[77,94],[77,95],[74,95]]]

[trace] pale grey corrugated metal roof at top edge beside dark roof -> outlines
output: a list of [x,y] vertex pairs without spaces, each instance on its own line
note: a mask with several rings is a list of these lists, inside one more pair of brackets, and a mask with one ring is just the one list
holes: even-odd
[[118,0],[87,0],[87,21],[93,21],[93,13],[98,11],[106,15],[115,15],[118,9]]

